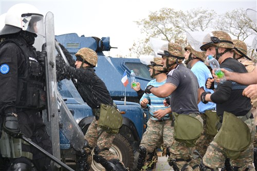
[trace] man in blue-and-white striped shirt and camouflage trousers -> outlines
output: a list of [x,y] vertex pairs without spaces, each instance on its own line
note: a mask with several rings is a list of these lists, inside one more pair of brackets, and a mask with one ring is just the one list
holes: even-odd
[[[166,82],[166,70],[163,69],[162,59],[154,58],[151,61],[150,75],[154,80],[151,80],[148,85],[155,85],[156,87],[163,85]],[[164,106],[163,100],[165,98],[158,98],[153,94],[144,93],[140,99],[142,108],[146,108],[151,101],[150,113],[151,117],[148,120],[148,127],[143,134],[140,147],[136,170],[154,169],[157,162],[155,149],[162,143],[164,147],[170,147],[173,142],[173,127],[171,127],[172,119],[170,106]],[[154,109],[153,109],[154,108]]]

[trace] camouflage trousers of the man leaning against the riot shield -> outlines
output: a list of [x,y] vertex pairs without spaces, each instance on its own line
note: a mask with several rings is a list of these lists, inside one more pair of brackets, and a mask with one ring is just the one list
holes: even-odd
[[[108,150],[111,148],[113,140],[116,134],[111,134],[106,132],[104,129],[98,126],[98,121],[96,118],[89,125],[85,139],[88,141],[88,146],[91,148],[85,148],[88,154],[87,162],[91,165],[92,163],[92,155],[91,151],[97,145],[100,149],[100,153],[98,155],[102,156],[106,160],[118,159],[118,156],[115,155],[112,151]],[[102,150],[102,151],[101,151]]]

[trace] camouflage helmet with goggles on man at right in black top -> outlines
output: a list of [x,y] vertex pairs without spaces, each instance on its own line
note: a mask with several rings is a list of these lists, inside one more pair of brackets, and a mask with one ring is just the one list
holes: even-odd
[[211,46],[227,49],[234,48],[231,37],[225,31],[212,31],[211,33],[207,34],[204,37],[203,46],[201,46],[200,49],[206,51],[207,48]]

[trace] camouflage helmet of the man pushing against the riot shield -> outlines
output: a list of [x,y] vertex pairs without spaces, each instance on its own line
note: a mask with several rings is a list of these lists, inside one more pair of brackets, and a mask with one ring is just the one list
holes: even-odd
[[98,56],[97,53],[90,48],[81,48],[75,56],[80,56],[85,63],[95,67],[97,65]]

